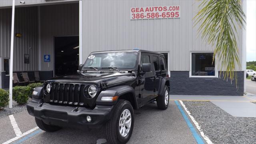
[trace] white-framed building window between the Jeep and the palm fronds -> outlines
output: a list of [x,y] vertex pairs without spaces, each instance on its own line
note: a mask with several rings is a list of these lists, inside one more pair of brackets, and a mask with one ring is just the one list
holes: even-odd
[[191,77],[217,77],[213,52],[192,52],[191,58]]

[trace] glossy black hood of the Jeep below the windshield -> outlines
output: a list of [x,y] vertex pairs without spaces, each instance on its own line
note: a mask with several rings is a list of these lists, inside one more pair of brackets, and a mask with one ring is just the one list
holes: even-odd
[[120,82],[126,82],[129,80],[133,80],[132,73],[121,73],[121,72],[113,72],[113,73],[100,73],[100,72],[84,72],[74,75],[66,75],[51,78],[48,81],[54,82],[83,82],[83,83],[96,83],[100,84],[104,82],[107,86],[111,84],[116,84]]

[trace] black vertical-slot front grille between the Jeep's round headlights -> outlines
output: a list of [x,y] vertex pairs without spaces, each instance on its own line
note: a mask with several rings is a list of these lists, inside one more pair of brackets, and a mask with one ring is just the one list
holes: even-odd
[[57,105],[69,106],[92,106],[94,98],[88,99],[84,96],[84,88],[89,84],[50,82],[52,88],[49,94],[45,92],[44,102]]

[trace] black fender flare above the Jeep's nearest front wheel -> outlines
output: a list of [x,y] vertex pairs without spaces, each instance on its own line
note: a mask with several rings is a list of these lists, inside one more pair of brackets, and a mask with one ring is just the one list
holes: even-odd
[[96,100],[96,105],[114,105],[116,104],[117,100],[113,102],[102,101],[101,100],[102,96],[118,96],[119,98],[119,96],[126,93],[132,93],[134,109],[138,109],[136,94],[134,92],[134,88],[132,88],[131,86],[115,86],[115,87],[108,88],[106,90],[102,90]]

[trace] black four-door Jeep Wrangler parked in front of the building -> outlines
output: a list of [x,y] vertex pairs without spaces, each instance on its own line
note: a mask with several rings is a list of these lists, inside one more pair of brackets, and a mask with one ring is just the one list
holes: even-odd
[[146,50],[92,52],[78,74],[52,78],[36,87],[28,113],[38,127],[106,127],[112,144],[128,142],[134,111],[156,101],[168,108],[170,82],[163,54]]

